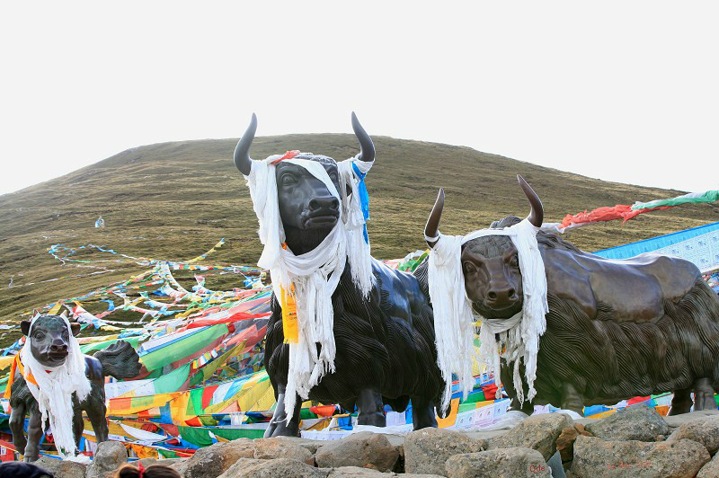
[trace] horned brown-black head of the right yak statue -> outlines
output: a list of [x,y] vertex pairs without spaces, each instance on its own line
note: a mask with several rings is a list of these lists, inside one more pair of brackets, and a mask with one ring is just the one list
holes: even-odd
[[[529,187],[527,181],[518,176],[519,185],[529,199],[531,211],[529,222],[541,226],[544,217],[542,201]],[[444,208],[444,190],[432,208],[424,234],[435,237],[439,218]],[[506,217],[495,221],[492,228],[509,227],[519,222],[518,217]],[[428,241],[433,247],[436,241]],[[467,241],[462,245],[462,273],[465,276],[466,296],[472,301],[475,312],[490,319],[507,319],[522,310],[522,276],[519,271],[517,249],[511,239],[503,235],[487,235]]]

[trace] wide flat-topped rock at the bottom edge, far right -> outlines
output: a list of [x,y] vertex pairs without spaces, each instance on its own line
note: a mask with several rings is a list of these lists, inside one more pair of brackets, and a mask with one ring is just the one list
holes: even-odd
[[577,478],[692,478],[708,461],[706,448],[688,439],[647,443],[580,435],[572,473]]

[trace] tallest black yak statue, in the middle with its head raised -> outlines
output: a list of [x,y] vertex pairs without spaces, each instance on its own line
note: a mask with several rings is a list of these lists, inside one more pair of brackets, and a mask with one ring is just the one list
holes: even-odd
[[[254,168],[262,166],[258,166],[261,161],[253,161],[249,156],[256,127],[257,120],[253,115],[250,127],[235,149],[235,165],[245,177],[249,177],[251,173],[256,175],[257,170]],[[374,144],[354,113],[352,127],[361,146],[359,155],[354,158],[354,164],[372,164],[375,156]],[[343,220],[342,215],[345,214],[342,202],[335,194],[336,191],[341,191],[341,188],[347,188],[347,185],[340,181],[341,172],[338,172],[338,163],[333,158],[298,151],[291,153],[292,155],[285,157],[305,160],[304,163],[299,162],[305,166],[300,167],[297,161],[281,158],[271,163],[273,167],[269,171],[274,176],[270,178],[270,184],[274,185],[276,182],[283,247],[290,252],[291,257],[288,260],[294,261],[315,253],[317,248],[324,247],[327,241],[332,240],[334,227]],[[267,161],[271,161],[271,158]],[[317,165],[324,168],[326,176],[323,171],[316,173],[315,169],[313,175],[306,169],[316,168]],[[360,174],[358,170],[355,171]],[[324,181],[320,181],[319,176],[322,176]],[[252,178],[248,179],[248,184],[251,180]],[[332,190],[335,190],[335,193],[332,193]],[[253,192],[256,212],[258,203],[263,200],[257,198],[257,194]],[[347,194],[351,194],[349,189]],[[262,239],[262,228],[269,226],[263,224],[262,219],[260,226]],[[268,241],[271,241],[271,238],[263,240],[265,251]],[[348,255],[351,254],[351,247],[352,244],[348,243]],[[337,261],[336,255],[329,256],[327,262]],[[339,283],[332,293],[330,311],[330,314],[333,314],[332,335],[336,348],[334,369],[325,370],[321,380],[312,386],[308,396],[302,399],[340,403],[348,411],[353,411],[356,405],[359,410],[359,424],[375,426],[386,425],[383,411],[385,403],[397,411],[404,411],[411,399],[414,428],[436,427],[435,403],[444,387],[444,381],[436,365],[434,325],[429,299],[422,293],[413,275],[391,270],[373,259],[371,266],[369,262],[367,264],[368,276],[374,278],[367,295],[359,290],[356,281],[352,279],[353,270],[349,260],[343,269],[334,270],[323,279],[329,282],[337,279],[339,275]],[[270,266],[267,268],[271,269]],[[274,270],[271,271],[273,284],[276,285],[278,278],[274,277]],[[297,299],[297,307],[301,306],[303,304]],[[277,294],[273,294],[271,299],[271,310],[264,361],[278,403],[265,436],[297,436],[302,399],[297,395],[293,410],[286,410],[290,344],[286,343],[288,338],[285,336],[285,326],[288,324],[283,323],[287,319],[283,318]],[[319,341],[315,341],[310,347],[322,356],[324,350]]]

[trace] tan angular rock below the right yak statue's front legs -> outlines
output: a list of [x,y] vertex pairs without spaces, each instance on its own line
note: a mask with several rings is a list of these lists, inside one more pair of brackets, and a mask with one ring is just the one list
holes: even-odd
[[564,413],[541,413],[532,415],[510,429],[502,437],[489,440],[489,449],[524,447],[537,450],[545,462],[556,452],[556,440],[562,430],[571,427],[573,421]]

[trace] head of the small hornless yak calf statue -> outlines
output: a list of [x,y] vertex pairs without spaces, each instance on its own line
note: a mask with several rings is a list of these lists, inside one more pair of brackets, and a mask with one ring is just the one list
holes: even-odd
[[[32,357],[45,367],[64,364],[70,351],[70,334],[65,319],[60,315],[40,315],[32,323],[32,333],[30,324],[30,321],[22,321],[20,328],[31,339]],[[76,336],[80,332],[80,324],[70,323],[70,329]]]

